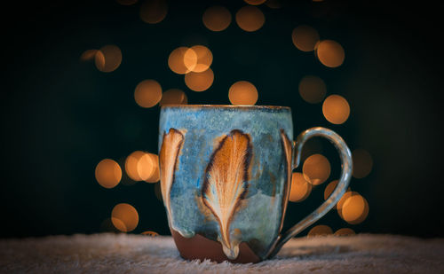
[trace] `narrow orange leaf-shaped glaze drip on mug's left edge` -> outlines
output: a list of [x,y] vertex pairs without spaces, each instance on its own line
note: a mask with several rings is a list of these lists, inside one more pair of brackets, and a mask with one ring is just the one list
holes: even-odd
[[184,135],[178,129],[170,129],[163,133],[163,142],[159,153],[161,168],[161,192],[163,204],[167,208],[169,220],[171,217],[170,209],[170,190],[174,183],[174,172],[178,165],[178,153],[184,144]]

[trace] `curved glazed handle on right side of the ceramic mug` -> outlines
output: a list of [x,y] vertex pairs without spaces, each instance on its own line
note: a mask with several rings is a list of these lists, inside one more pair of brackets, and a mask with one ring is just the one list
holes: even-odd
[[317,220],[321,219],[323,215],[326,215],[331,208],[333,208],[337,202],[344,195],[348,184],[350,183],[350,178],[352,176],[353,161],[352,153],[347,145],[345,145],[344,139],[337,135],[336,132],[330,129],[325,129],[321,127],[306,129],[304,132],[299,134],[293,145],[292,153],[292,168],[297,168],[301,159],[302,147],[305,142],[311,137],[325,137],[327,138],[335,147],[340,154],[342,162],[341,177],[339,178],[339,183],[334,192],[331,193],[329,199],[325,200],[321,207],[318,207],[313,211],[312,214],[306,216],[302,221],[295,224],[289,231],[280,235],[274,244],[274,248],[270,250],[266,258],[270,259],[274,257],[275,254],[281,250],[281,247],[291,238],[296,236],[300,231],[304,231],[308,226],[312,225]]

